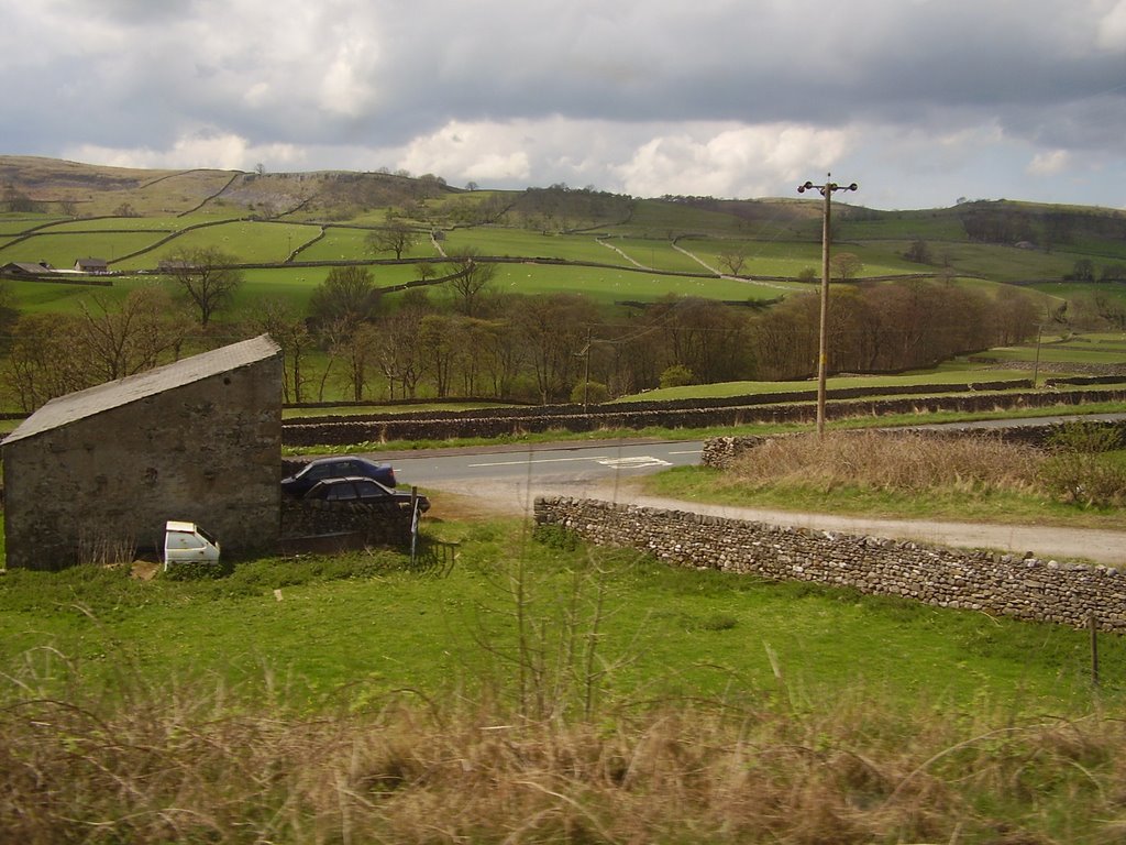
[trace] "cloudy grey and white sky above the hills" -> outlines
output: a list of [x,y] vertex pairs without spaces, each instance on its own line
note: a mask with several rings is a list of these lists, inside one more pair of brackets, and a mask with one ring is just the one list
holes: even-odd
[[1126,206],[1126,0],[0,0],[0,153]]

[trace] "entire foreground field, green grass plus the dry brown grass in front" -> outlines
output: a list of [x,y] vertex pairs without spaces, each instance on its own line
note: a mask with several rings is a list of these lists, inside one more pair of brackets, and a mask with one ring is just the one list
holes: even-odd
[[1112,840],[1123,638],[1100,638],[1096,687],[1085,632],[431,517],[457,545],[428,567],[379,552],[218,581],[5,575],[6,829]]

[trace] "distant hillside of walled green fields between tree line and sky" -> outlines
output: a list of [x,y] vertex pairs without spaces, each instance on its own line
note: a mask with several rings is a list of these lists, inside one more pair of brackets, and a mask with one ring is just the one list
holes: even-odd
[[[565,186],[464,190],[440,178],[382,172],[248,174],[93,167],[0,157],[0,261],[70,267],[97,256],[115,270],[154,269],[185,247],[241,263],[386,260],[365,237],[388,215],[417,229],[411,258],[473,248],[484,256],[640,266],[707,275],[744,257],[744,276],[820,268],[820,199],[641,199]],[[902,273],[1002,283],[1063,281],[1076,261],[1126,263],[1126,215],[1103,208],[975,202],[950,208],[834,207],[834,251],[863,275]],[[440,241],[430,241],[432,232]],[[695,260],[672,244],[692,252]],[[905,260],[922,243],[922,263]],[[304,248],[304,249],[303,249]],[[820,272],[820,270],[819,270]]]

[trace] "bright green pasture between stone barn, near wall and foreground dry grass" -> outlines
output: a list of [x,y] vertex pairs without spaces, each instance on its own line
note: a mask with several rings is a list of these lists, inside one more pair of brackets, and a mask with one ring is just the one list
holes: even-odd
[[[48,648],[95,687],[128,667],[155,686],[209,677],[256,697],[275,678],[311,708],[406,687],[473,695],[483,678],[513,670],[499,657],[517,644],[509,579],[522,572],[520,613],[554,637],[561,597],[587,573],[581,602],[601,596],[598,649],[616,667],[605,681],[617,701],[745,700],[777,690],[779,676],[817,706],[878,695],[909,709],[1066,713],[1094,700],[1082,631],[674,569],[632,552],[552,549],[518,523],[429,522],[425,533],[458,543],[448,570],[410,571],[386,553],[250,561],[213,582],[11,570],[0,580],[0,662],[8,671]],[[1118,701],[1126,639],[1100,646],[1099,695]],[[61,692],[42,683],[42,694]]]

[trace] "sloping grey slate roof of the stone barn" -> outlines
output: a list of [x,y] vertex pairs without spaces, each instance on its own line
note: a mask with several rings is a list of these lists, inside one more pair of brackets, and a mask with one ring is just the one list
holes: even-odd
[[243,340],[212,352],[193,355],[117,381],[98,384],[52,399],[8,435],[2,445],[26,439],[87,419],[114,408],[148,399],[204,379],[230,373],[276,356],[280,347],[269,337]]

